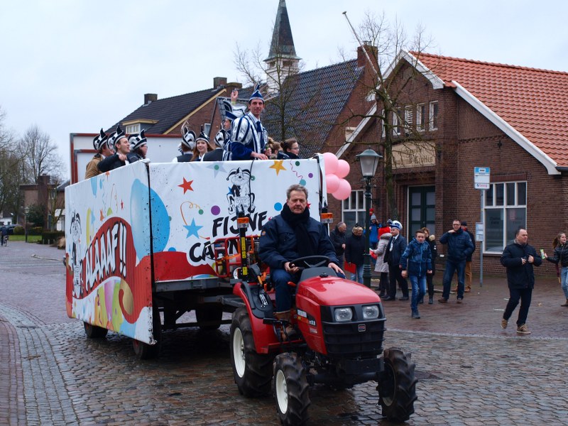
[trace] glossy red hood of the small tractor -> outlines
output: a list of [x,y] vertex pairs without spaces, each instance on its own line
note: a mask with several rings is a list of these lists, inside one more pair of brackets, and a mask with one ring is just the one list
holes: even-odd
[[381,301],[370,288],[337,277],[308,278],[298,284],[296,293],[322,306],[359,305]]

